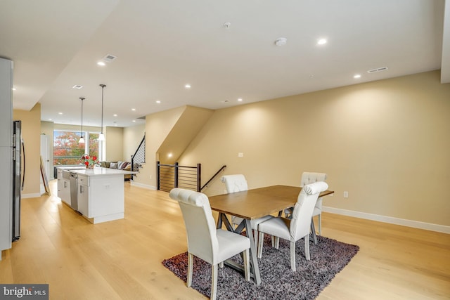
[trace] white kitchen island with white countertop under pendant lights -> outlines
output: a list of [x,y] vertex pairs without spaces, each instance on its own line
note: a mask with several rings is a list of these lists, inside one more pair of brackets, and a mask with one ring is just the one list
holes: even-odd
[[91,223],[124,218],[124,174],[131,171],[95,167],[78,174],[78,211]]

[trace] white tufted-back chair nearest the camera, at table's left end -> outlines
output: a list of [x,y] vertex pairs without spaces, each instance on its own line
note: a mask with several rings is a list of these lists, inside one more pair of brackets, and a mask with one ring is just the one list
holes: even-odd
[[186,285],[191,287],[193,256],[197,256],[212,265],[211,299],[216,299],[219,263],[240,253],[243,253],[245,280],[250,281],[250,240],[248,237],[217,229],[212,216],[210,200],[205,194],[174,188],[170,191],[169,196],[179,203],[188,236]]

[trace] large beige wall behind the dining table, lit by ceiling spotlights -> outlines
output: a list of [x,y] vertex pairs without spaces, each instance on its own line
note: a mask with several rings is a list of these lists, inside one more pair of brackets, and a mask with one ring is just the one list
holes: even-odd
[[[179,162],[201,163],[204,181],[226,164],[225,174],[245,174],[250,188],[299,185],[303,171],[325,172],[335,190],[327,207],[450,226],[450,84],[439,76],[217,110]],[[205,193],[223,190],[217,180]]]

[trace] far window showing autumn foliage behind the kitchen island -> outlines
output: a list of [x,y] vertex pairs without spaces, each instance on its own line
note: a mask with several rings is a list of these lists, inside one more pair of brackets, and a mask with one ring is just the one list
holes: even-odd
[[[81,138],[79,131],[53,131],[53,165],[64,166],[68,164],[80,164],[81,157],[87,153],[98,157],[98,133],[84,132],[84,141],[78,143]],[[86,138],[89,136],[89,139]]]

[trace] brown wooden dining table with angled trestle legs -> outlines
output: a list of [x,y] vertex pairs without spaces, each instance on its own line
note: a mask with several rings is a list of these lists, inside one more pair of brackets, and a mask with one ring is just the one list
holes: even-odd
[[[227,230],[239,234],[245,229],[250,239],[251,277],[257,285],[261,284],[261,275],[257,261],[257,245],[253,235],[249,234],[252,233],[250,220],[269,214],[280,215],[284,209],[295,205],[301,190],[302,188],[298,186],[271,185],[264,188],[254,188],[252,190],[209,197],[211,209],[219,212],[217,228],[221,228],[224,225]],[[333,193],[333,190],[326,190],[320,193],[319,197]],[[226,215],[238,216],[243,218],[243,221],[237,228],[233,228]],[[225,263],[227,266],[243,271],[243,266],[238,265],[234,261],[227,260]]]

